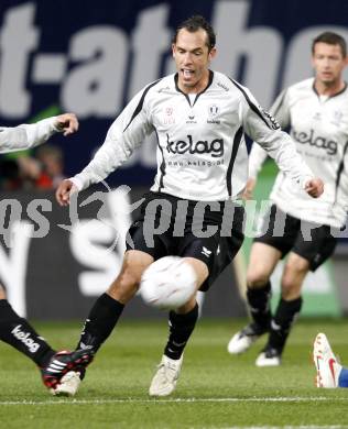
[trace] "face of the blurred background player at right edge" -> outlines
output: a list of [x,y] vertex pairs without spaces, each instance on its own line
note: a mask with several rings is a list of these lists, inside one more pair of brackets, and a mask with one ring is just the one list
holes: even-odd
[[314,46],[312,57],[316,79],[322,84],[335,85],[341,79],[341,73],[347,64],[339,45],[318,42]]

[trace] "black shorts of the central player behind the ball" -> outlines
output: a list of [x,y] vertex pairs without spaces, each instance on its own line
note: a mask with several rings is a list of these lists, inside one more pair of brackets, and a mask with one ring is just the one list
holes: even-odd
[[145,252],[154,260],[175,255],[203,261],[209,275],[200,290],[207,290],[242,244],[243,207],[233,205],[229,233],[226,229],[221,233],[224,208],[210,211],[206,207],[199,215],[202,210],[196,210],[197,205],[208,204],[182,200],[162,193],[150,193],[144,197],[140,215],[128,231],[127,250]]

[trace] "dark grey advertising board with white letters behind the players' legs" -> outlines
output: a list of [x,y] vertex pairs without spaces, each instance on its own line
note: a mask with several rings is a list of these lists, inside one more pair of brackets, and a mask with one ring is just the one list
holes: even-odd
[[[34,319],[84,319],[120,271],[126,232],[144,189],[83,193],[61,208],[52,193],[1,194],[0,283],[15,310]],[[246,316],[232,266],[207,294],[205,317]],[[126,317],[166,317],[135,297]]]

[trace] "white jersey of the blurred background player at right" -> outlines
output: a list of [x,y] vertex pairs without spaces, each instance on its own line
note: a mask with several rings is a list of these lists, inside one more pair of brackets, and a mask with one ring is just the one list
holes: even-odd
[[[348,207],[348,89],[333,96],[319,96],[314,78],[284,90],[271,113],[282,128],[291,127],[297,152],[315,176],[325,184],[318,199],[294,187],[282,172],[276,176],[270,199],[298,219],[339,228]],[[255,177],[267,153],[254,144],[250,154],[250,176]]]

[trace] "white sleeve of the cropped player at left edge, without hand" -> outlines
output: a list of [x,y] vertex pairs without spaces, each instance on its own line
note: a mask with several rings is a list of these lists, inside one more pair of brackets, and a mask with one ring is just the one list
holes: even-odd
[[0,154],[23,151],[44,143],[58,131],[54,123],[55,117],[14,128],[0,127]]

